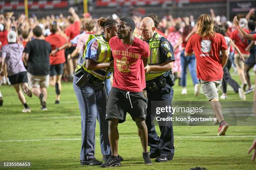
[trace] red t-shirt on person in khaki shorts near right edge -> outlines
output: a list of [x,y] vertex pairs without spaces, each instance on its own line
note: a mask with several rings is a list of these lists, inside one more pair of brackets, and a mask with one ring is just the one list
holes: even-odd
[[[250,33],[245,28],[243,30],[245,30],[247,33]],[[235,41],[235,45],[239,48],[241,53],[243,53],[243,54],[250,54],[250,52],[245,50],[246,47],[248,46],[248,42],[247,42],[247,40],[245,38],[242,37],[242,35],[240,34],[239,30],[234,30],[233,33],[232,33],[232,37],[231,38]],[[238,52],[235,50],[235,54],[237,54],[237,53]]]

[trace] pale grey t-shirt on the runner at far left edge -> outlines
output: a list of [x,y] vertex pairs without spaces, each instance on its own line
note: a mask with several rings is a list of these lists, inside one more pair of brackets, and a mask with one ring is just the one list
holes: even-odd
[[10,43],[1,48],[0,58],[3,57],[6,62],[8,76],[26,71],[22,62],[23,45]]

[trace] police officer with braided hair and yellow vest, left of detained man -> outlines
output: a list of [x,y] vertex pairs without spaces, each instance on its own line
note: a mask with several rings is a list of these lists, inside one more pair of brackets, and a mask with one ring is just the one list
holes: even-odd
[[108,121],[105,120],[107,94],[103,82],[109,78],[110,67],[113,67],[108,41],[116,36],[117,21],[100,18],[97,23],[103,28],[104,36],[90,35],[73,80],[82,119],[80,165],[102,164],[95,158],[96,119],[100,124],[100,148],[103,160],[107,160],[111,155]]

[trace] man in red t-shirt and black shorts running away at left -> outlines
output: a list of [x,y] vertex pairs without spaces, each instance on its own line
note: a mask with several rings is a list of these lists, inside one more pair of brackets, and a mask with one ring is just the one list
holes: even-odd
[[[51,49],[57,49],[64,45],[67,40],[57,32],[57,26],[51,25],[51,35],[47,36],[45,40],[51,44]],[[56,52],[55,55],[50,55],[50,85],[55,85],[56,99],[55,104],[59,104],[61,92],[61,77],[63,74],[63,63],[65,62],[64,50]]]

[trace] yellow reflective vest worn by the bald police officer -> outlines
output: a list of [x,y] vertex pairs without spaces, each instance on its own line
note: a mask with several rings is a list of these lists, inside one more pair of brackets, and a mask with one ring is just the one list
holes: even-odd
[[[161,63],[160,52],[159,52],[161,37],[163,37],[163,36],[156,32],[156,33],[154,33],[154,36],[151,38],[151,40],[149,40],[149,42],[148,42],[149,49],[150,49],[150,58],[148,60],[148,65],[159,65]],[[140,37],[140,39],[142,40],[142,37]],[[146,81],[152,80],[156,77],[159,77],[164,73],[165,73],[165,71],[164,72],[157,72],[157,71],[147,72],[146,73]]]

